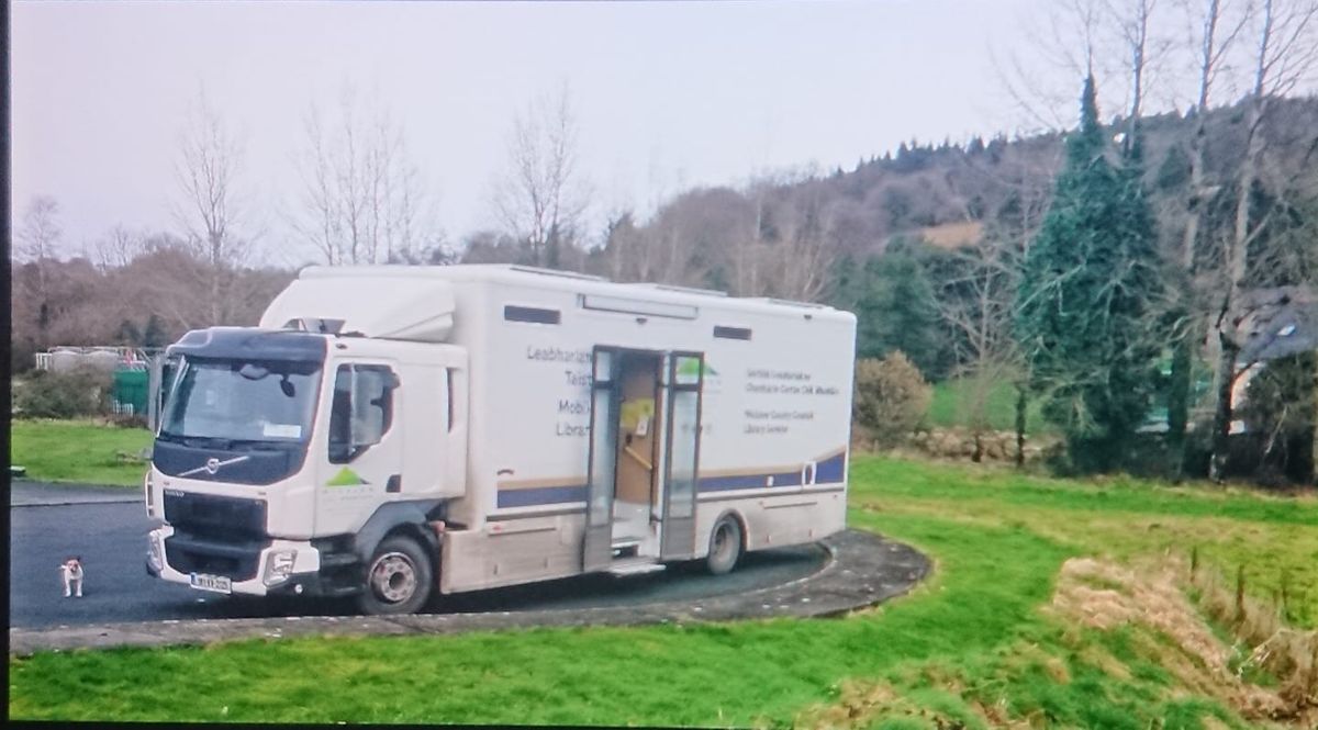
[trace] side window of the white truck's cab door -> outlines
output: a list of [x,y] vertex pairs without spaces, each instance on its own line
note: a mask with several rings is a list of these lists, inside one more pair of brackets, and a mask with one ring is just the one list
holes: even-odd
[[330,412],[330,463],[347,464],[380,443],[394,419],[398,376],[386,365],[340,365]]

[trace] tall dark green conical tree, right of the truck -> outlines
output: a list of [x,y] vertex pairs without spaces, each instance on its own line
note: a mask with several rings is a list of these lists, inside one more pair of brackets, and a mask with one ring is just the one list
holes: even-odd
[[1120,162],[1098,123],[1093,76],[1052,206],[1025,256],[1016,336],[1044,416],[1085,470],[1119,466],[1144,420],[1161,351],[1156,228],[1140,145]]

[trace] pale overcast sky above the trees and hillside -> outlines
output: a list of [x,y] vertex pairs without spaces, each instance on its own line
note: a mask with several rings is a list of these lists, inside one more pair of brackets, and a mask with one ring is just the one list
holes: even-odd
[[564,82],[597,215],[767,169],[850,170],[903,140],[1027,124],[992,57],[1046,1],[20,1],[13,215],[55,196],[67,253],[115,224],[174,225],[171,161],[202,84],[245,142],[268,249],[291,236],[307,108],[345,83],[402,123],[451,240],[494,225],[510,119]]

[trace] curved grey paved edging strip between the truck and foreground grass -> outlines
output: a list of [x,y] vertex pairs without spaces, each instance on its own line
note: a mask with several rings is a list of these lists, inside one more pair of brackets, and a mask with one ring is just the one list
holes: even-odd
[[[746,575],[764,577],[764,572],[755,569],[757,563],[774,568],[770,571],[775,576],[771,584],[746,584]],[[837,615],[908,592],[928,575],[929,568],[929,560],[908,546],[849,530],[818,546],[749,553],[746,565],[728,576],[701,576],[691,565],[633,578],[581,576],[442,597],[432,610],[444,613],[387,618],[327,611],[323,615],[11,629],[9,651],[26,655],[57,648],[206,644],[244,638],[453,634],[532,626]],[[269,609],[273,602],[233,601],[233,606],[243,605]],[[302,606],[306,607],[306,604]]]

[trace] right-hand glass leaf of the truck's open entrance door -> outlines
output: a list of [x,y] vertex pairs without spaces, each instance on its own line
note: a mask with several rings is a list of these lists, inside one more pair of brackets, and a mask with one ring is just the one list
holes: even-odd
[[671,352],[666,357],[664,423],[667,447],[663,470],[663,534],[660,560],[696,555],[696,484],[700,474],[700,410],[705,356]]

